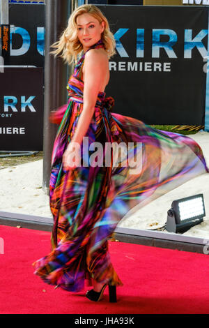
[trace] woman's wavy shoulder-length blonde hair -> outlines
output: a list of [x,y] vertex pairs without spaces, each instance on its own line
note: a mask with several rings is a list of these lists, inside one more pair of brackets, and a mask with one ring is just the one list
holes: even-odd
[[77,55],[82,52],[83,46],[77,37],[77,17],[84,13],[88,13],[95,17],[101,24],[104,22],[104,31],[101,34],[101,39],[104,43],[104,49],[106,50],[108,57],[113,56],[116,51],[116,41],[114,39],[113,33],[109,29],[109,23],[107,18],[104,17],[101,10],[94,5],[82,5],[75,9],[68,20],[68,27],[61,34],[59,41],[53,43],[51,47],[56,48],[50,52],[55,54],[55,57],[61,53],[59,57],[62,57],[65,63],[71,64],[73,61],[77,61]]

